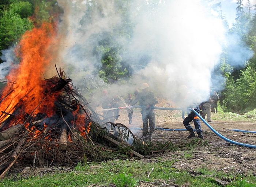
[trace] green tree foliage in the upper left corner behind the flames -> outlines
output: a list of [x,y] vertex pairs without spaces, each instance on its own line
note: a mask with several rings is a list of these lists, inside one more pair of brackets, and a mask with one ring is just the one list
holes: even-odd
[[18,42],[21,35],[31,30],[34,25],[55,22],[53,15],[61,12],[63,11],[57,6],[56,0],[2,0],[0,2],[0,50],[7,49],[13,42]]

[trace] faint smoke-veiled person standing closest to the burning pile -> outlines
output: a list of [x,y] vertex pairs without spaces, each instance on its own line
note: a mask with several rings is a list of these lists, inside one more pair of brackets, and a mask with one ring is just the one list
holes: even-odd
[[[108,91],[104,90],[103,94],[104,94],[104,96],[103,96],[102,101],[101,101],[102,108],[103,109],[111,109],[111,108],[113,108],[114,100],[108,96]],[[112,123],[114,122],[113,110],[103,110],[103,116],[106,119],[109,119],[110,122],[112,122]]]

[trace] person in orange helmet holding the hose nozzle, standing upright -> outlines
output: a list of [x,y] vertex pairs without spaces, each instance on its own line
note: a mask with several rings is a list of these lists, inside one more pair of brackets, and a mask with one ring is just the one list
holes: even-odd
[[131,105],[135,105],[139,102],[140,106],[146,106],[142,108],[142,121],[143,121],[143,130],[142,134],[145,136],[148,133],[148,124],[150,127],[149,136],[152,138],[152,133],[155,129],[155,110],[150,108],[150,106],[154,106],[158,103],[157,97],[152,91],[148,91],[148,84],[143,83],[140,87],[142,92],[138,94],[138,96],[131,102]]

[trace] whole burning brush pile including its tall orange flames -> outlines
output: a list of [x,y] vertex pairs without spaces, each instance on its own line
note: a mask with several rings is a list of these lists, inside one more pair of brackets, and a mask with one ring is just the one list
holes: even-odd
[[19,64],[0,93],[0,178],[12,166],[16,171],[29,165],[70,167],[84,160],[118,158],[122,150],[138,154],[124,148],[125,139],[135,143],[132,132],[99,118],[63,70],[55,66],[56,76],[41,77],[52,69],[56,40],[55,24],[43,23],[27,31],[15,48]]

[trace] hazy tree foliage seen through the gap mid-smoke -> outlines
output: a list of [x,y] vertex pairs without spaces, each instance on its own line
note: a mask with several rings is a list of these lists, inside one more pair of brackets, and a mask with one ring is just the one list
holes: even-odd
[[101,58],[102,66],[98,72],[99,77],[106,83],[114,83],[132,75],[132,70],[122,55],[126,53],[125,46],[132,38],[135,23],[129,15],[130,3],[124,0],[115,0],[116,13],[121,15],[121,22],[112,28],[112,31],[104,33],[99,41],[95,54]]

